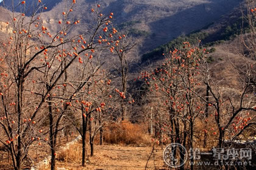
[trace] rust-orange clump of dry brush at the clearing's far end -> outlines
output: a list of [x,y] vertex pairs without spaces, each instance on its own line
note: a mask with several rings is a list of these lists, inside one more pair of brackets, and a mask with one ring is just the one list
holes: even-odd
[[105,128],[104,142],[110,144],[151,144],[151,137],[146,134],[146,128],[141,124],[129,121],[109,123]]

